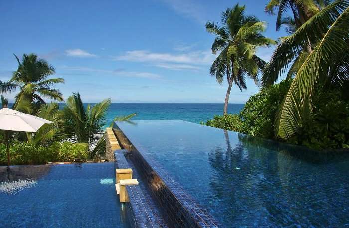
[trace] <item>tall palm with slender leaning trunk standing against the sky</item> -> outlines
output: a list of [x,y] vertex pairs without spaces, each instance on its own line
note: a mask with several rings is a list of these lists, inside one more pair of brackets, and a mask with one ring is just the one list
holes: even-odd
[[255,16],[245,16],[244,11],[245,6],[236,4],[222,12],[221,27],[212,22],[206,23],[207,31],[216,35],[212,53],[220,52],[212,63],[210,74],[216,77],[219,84],[226,77],[229,84],[224,101],[224,115],[227,114],[233,83],[241,91],[246,89],[246,77],[259,83],[258,71],[264,69],[266,62],[256,55],[257,48],[276,44],[276,41],[263,36],[266,23]]

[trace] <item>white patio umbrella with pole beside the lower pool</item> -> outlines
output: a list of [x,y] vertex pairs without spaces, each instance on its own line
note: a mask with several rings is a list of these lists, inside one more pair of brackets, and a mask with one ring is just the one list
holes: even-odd
[[5,130],[8,166],[10,165],[8,131],[36,132],[45,123],[50,124],[52,122],[7,107],[0,109],[0,129]]

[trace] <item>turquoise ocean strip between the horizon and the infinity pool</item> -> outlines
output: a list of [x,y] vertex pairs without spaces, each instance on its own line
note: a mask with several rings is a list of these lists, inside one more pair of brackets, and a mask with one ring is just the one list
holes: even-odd
[[[223,114],[224,104],[178,104],[178,103],[113,103],[108,114],[108,124],[117,115],[136,113],[133,120],[172,120],[180,119],[193,123],[206,122],[214,115]],[[229,104],[228,113],[238,113],[244,104]]]

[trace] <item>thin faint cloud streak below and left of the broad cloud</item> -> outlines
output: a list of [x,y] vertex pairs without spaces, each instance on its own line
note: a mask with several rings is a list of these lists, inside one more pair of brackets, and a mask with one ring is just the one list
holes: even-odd
[[[116,75],[116,76],[124,76],[124,77],[135,77],[135,78],[149,78],[149,79],[160,79],[161,76],[155,73],[150,72],[139,72],[139,71],[125,71],[123,69],[116,70],[103,70],[96,69],[90,67],[68,67],[63,66],[62,69],[66,71],[74,71],[74,72],[94,72],[101,73],[105,75]],[[62,73],[64,74],[64,73]]]

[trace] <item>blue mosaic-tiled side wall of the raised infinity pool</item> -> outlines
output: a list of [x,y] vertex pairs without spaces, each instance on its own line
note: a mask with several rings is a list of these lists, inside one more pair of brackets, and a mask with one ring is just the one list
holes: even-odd
[[132,153],[132,162],[140,171],[153,198],[163,211],[163,217],[174,227],[221,227],[208,210],[201,207],[175,182],[154,156],[141,154],[114,123],[122,147]]

